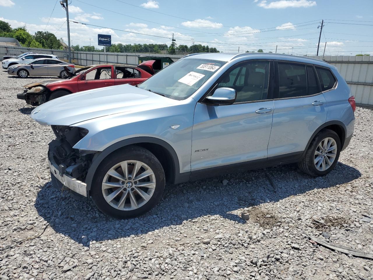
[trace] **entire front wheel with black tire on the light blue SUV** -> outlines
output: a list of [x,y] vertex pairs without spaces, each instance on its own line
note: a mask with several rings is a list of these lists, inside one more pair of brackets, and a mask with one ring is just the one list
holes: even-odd
[[[131,177],[135,165],[140,166],[136,172],[138,180]],[[128,170],[127,177],[123,167]],[[112,177],[108,172],[115,175],[119,173],[122,177]],[[150,175],[140,178],[147,174]],[[128,146],[111,153],[98,166],[91,186],[91,196],[98,209],[105,214],[126,219],[142,215],[153,208],[162,198],[164,184],[163,167],[156,156],[142,147]]]

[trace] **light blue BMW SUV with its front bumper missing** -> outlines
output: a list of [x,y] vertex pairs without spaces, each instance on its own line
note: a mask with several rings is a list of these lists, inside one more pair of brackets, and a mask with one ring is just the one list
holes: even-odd
[[346,82],[322,60],[204,53],[136,87],[51,100],[31,117],[56,134],[54,186],[129,218],[155,206],[166,182],[294,162],[325,175],[351,140],[354,110]]

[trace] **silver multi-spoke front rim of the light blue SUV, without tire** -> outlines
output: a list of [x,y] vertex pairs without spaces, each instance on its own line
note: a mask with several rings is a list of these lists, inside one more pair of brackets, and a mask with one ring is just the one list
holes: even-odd
[[153,170],[141,161],[122,161],[106,172],[102,193],[115,209],[129,211],[145,205],[153,196],[156,177]]

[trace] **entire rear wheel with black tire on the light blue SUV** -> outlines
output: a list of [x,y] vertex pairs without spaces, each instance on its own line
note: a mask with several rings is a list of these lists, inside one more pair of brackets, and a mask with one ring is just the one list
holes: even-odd
[[[325,146],[322,147],[323,145],[319,146],[319,144],[324,144],[327,147],[329,143],[329,149],[325,149]],[[330,150],[333,147],[335,147],[335,149]],[[327,150],[327,153],[325,153],[324,150]],[[338,162],[340,152],[341,140],[339,139],[338,134],[333,130],[323,129],[317,133],[311,141],[304,158],[298,163],[298,167],[311,176],[316,177],[326,175],[334,169]]]

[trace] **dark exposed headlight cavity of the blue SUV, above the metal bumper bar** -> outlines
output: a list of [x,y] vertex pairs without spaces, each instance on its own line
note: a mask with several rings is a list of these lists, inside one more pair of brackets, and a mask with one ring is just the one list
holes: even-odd
[[54,161],[60,175],[69,174],[71,177],[84,181],[96,151],[73,149],[88,130],[80,127],[52,125],[56,140],[49,143],[49,159]]

